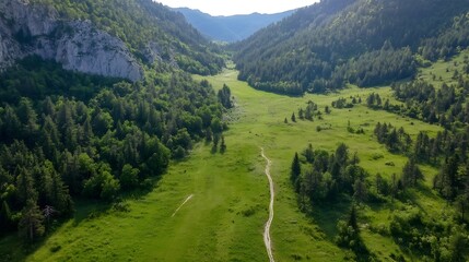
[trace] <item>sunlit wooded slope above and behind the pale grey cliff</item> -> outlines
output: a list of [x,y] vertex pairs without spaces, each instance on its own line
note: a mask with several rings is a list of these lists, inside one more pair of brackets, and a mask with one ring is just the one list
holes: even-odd
[[[151,52],[186,72],[214,74],[224,66],[221,49],[195,29],[184,15],[151,0],[34,0],[57,10],[63,20],[89,20],[120,38],[143,63]],[[153,50],[150,50],[153,49]]]

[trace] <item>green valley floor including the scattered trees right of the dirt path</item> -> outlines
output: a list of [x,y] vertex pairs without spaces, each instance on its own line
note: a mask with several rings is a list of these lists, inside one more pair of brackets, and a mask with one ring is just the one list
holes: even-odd
[[[453,75],[468,67],[468,55],[466,50],[454,60],[435,62],[418,78],[436,88],[443,83],[458,84]],[[8,261],[265,261],[261,233],[268,219],[269,187],[263,147],[272,162],[275,188],[271,227],[275,261],[467,261],[468,191],[464,184],[468,158],[461,157],[468,148],[467,133],[450,134],[419,119],[420,112],[410,117],[415,112],[413,105],[447,104],[446,92],[437,96],[408,92],[414,94],[409,97],[413,102],[402,100],[401,91],[396,97],[389,86],[290,97],[254,90],[237,81],[237,73],[224,70],[207,78],[215,90],[230,86],[236,102],[227,115],[232,122],[224,133],[224,154],[212,154],[212,144],[199,143],[191,157],[171,165],[148,194],[130,195],[112,206],[80,203],[75,218],[60,225],[27,257],[12,251],[22,250],[13,237],[0,240],[0,254]],[[432,75],[437,76],[432,80]],[[469,75],[460,75],[468,83]],[[456,88],[459,95],[468,90]],[[383,103],[368,103],[372,94]],[[462,99],[459,95],[457,100]],[[351,106],[339,106],[342,100]],[[307,111],[309,105],[317,106],[312,120],[306,112],[301,118],[300,111]],[[444,114],[460,126],[468,116],[464,111]],[[297,116],[295,121],[292,112]],[[383,131],[383,123],[391,124],[388,132]],[[384,139],[396,133],[396,144]],[[402,144],[402,138],[411,142]],[[347,146],[339,146],[342,143]],[[418,151],[418,165],[404,168]],[[301,164],[300,187],[291,177],[295,152]],[[434,164],[435,155],[439,166]],[[449,165],[458,163],[457,169],[448,168],[446,156]],[[413,184],[403,174],[415,166],[423,178],[419,176]],[[457,178],[454,182],[459,188],[448,183],[442,190],[439,178],[447,171],[454,176],[455,170],[457,177],[444,180]],[[355,189],[361,189],[360,194],[353,193]],[[456,201],[452,192],[458,192]],[[353,204],[356,224],[343,230]],[[343,241],[348,234],[354,241]],[[353,248],[355,242],[364,247],[364,255]]]

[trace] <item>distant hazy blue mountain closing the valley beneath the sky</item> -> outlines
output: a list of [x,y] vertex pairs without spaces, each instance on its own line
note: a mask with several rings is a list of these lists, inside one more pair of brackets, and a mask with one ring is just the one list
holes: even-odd
[[286,11],[275,14],[253,13],[230,16],[212,16],[199,10],[187,8],[175,10],[184,14],[194,27],[210,39],[227,43],[243,40],[260,28],[281,21],[294,12]]

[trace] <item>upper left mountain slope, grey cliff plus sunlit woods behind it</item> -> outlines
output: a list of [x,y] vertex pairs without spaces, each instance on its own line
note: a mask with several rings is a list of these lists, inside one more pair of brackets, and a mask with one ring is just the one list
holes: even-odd
[[13,0],[0,3],[0,68],[38,55],[65,69],[136,81],[156,61],[201,74],[223,64],[183,15],[150,0]]

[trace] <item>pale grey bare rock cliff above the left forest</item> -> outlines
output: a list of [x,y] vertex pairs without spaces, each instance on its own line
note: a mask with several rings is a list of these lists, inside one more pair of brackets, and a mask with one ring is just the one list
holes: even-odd
[[63,21],[49,7],[27,0],[0,2],[0,70],[37,55],[65,69],[138,81],[141,66],[126,45],[89,21]]

